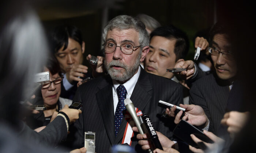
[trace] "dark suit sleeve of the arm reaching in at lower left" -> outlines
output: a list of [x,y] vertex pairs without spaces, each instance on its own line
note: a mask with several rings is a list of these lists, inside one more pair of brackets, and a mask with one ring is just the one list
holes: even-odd
[[61,116],[57,116],[39,133],[30,129],[24,122],[22,124],[23,128],[18,136],[25,140],[31,140],[35,144],[56,147],[61,141],[67,138],[67,125],[65,119]]

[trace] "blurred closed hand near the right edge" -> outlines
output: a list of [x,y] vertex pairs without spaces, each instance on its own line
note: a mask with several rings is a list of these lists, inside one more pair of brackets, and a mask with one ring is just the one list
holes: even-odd
[[230,111],[224,114],[223,119],[221,120],[221,124],[228,126],[227,131],[230,134],[236,134],[240,132],[242,127],[244,127],[249,117],[249,112],[238,112],[238,111]]

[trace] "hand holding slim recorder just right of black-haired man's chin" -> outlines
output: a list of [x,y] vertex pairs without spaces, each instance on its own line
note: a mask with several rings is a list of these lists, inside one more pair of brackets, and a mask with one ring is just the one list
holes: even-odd
[[176,63],[175,68],[187,68],[186,71],[176,72],[176,76],[182,80],[188,80],[195,73],[195,63],[192,60],[185,60]]

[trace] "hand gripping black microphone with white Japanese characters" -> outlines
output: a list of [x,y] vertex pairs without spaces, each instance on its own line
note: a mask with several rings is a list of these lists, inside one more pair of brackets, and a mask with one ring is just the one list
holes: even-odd
[[[134,132],[138,132],[138,128],[136,126],[132,127],[132,130]],[[174,142],[169,140],[169,138],[164,136],[162,133],[157,132],[157,136],[158,136],[158,139],[159,139],[162,147],[172,148],[172,146],[174,145]],[[139,140],[139,145],[142,146],[143,150],[148,150],[148,149],[152,148],[151,141],[147,140],[149,138],[147,137],[146,134],[137,134],[137,139]]]

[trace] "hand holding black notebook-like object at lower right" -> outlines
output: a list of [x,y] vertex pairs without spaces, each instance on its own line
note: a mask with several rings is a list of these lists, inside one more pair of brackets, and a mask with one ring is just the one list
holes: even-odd
[[[213,144],[206,143],[206,142],[200,140],[199,138],[197,138],[194,134],[191,134],[190,136],[191,136],[192,140],[196,142],[196,144],[199,144],[199,143],[202,143],[202,142],[203,142],[203,144],[206,146],[206,149],[207,149],[207,148],[208,148],[208,149],[213,149],[213,148],[215,148],[218,144],[221,144],[221,143],[224,142],[224,140],[223,140],[222,138],[217,137],[216,135],[214,135],[214,134],[211,133],[211,132],[208,132],[208,131],[204,130],[203,133],[204,133],[207,137],[209,137],[212,141],[214,141],[214,143],[213,143]],[[200,145],[199,145],[199,146],[200,146]],[[189,149],[190,149],[192,152],[194,152],[194,153],[204,153],[204,151],[203,151],[202,149],[196,149],[195,147],[192,147],[192,146],[190,146],[190,145],[189,145]]]

